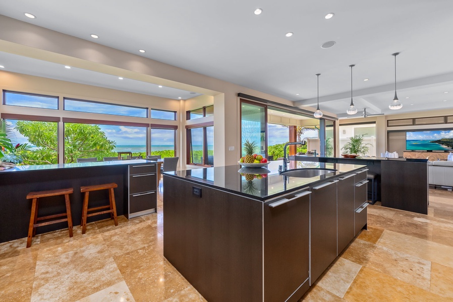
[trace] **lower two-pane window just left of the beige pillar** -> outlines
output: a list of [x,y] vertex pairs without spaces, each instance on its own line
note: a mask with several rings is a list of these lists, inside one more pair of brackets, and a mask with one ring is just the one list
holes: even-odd
[[212,123],[186,126],[187,164],[214,166],[214,126]]

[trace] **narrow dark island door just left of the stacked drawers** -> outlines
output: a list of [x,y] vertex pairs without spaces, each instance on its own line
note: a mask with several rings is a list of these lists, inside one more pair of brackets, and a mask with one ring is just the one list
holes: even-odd
[[355,236],[354,232],[354,174],[338,178],[338,254]]

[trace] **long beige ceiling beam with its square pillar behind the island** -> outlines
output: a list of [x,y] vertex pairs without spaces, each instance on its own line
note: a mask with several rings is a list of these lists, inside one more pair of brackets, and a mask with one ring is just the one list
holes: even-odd
[[[240,157],[238,93],[286,105],[293,102],[91,41],[0,16],[0,50],[214,97],[215,165]],[[314,110],[313,110],[314,111]],[[234,150],[229,151],[229,147]]]

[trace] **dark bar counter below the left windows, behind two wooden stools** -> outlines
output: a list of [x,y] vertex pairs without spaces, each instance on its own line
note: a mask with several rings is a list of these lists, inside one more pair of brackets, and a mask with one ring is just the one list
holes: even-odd
[[[74,188],[70,195],[73,224],[80,224],[83,193],[81,186],[116,183],[117,215],[127,218],[154,212],[157,204],[155,162],[124,160],[73,164],[17,166],[0,171],[0,243],[27,237],[31,201],[29,192]],[[140,176],[140,177],[137,177]],[[90,206],[109,203],[106,190],[90,193]],[[46,197],[39,216],[65,212],[61,196]],[[88,222],[109,218],[110,214],[88,217]],[[66,222],[44,225],[36,233],[66,229]]]

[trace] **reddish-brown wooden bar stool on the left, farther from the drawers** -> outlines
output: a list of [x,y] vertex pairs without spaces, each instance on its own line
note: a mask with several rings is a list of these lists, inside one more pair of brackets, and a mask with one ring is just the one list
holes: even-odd
[[[72,194],[73,192],[74,192],[73,188],[67,188],[67,189],[38,191],[38,192],[28,193],[27,199],[33,199],[33,201],[31,204],[30,224],[28,225],[27,248],[29,248],[31,246],[31,238],[36,235],[36,228],[38,226],[68,221],[69,237],[73,236],[72,235],[71,204],[69,202],[69,194]],[[66,213],[38,217],[39,198],[57,196],[57,195],[65,195]],[[36,223],[39,220],[52,219],[52,218],[63,217],[63,216],[66,216],[66,218]]]

